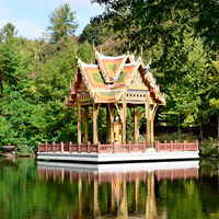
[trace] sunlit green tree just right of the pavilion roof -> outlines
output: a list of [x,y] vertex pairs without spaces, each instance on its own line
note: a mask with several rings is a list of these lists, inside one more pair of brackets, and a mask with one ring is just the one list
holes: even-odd
[[[189,35],[185,35],[184,38],[186,46],[183,49],[187,53],[188,59],[183,62],[182,69],[172,66],[173,70],[176,70],[177,79],[166,83],[169,74],[163,76],[162,80],[165,83],[162,88],[168,94],[168,107],[162,108],[161,118],[164,122],[163,125],[177,126],[178,129],[199,126],[203,140],[203,125],[209,123],[211,115],[209,93],[212,88],[205,68],[207,53],[200,39],[194,42]],[[193,50],[191,50],[192,44]]]

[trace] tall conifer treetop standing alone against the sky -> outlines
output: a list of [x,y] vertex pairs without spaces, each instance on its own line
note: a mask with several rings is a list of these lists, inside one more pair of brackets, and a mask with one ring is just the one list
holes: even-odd
[[49,16],[51,26],[48,26],[48,30],[51,31],[53,43],[58,42],[62,36],[74,34],[78,27],[74,22],[74,14],[68,3],[51,13]]

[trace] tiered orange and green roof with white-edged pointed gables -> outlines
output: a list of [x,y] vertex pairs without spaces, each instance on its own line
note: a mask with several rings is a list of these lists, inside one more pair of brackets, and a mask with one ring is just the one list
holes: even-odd
[[84,64],[78,59],[78,71],[67,105],[71,106],[77,101],[77,93],[82,84],[94,102],[116,103],[132,84],[135,78],[148,88],[158,104],[165,104],[150,67],[145,67],[141,58],[135,61],[130,55],[110,57],[95,49],[95,65]]

